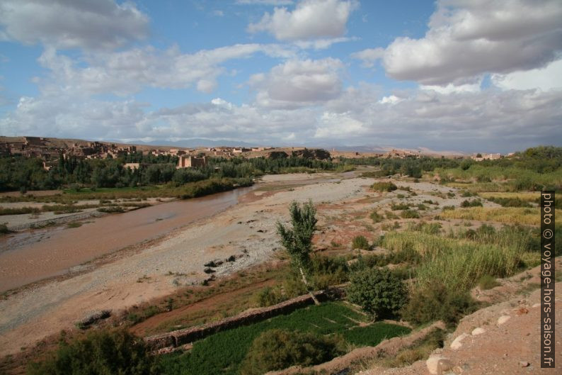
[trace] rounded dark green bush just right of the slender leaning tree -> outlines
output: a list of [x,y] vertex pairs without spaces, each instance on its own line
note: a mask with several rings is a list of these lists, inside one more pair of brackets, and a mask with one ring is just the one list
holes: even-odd
[[389,269],[363,269],[350,276],[348,300],[373,318],[391,318],[403,306],[408,293]]

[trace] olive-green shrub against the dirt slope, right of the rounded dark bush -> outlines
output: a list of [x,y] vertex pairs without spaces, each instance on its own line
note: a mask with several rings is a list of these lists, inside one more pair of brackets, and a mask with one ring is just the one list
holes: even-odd
[[401,310],[401,316],[414,325],[443,320],[450,326],[474,310],[476,303],[468,292],[452,291],[444,284],[434,284],[415,289]]

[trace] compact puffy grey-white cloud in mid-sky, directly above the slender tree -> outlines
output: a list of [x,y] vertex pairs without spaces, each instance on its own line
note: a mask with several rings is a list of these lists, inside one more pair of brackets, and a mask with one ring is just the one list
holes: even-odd
[[340,60],[289,60],[268,74],[254,74],[250,85],[257,90],[256,101],[265,107],[307,106],[336,98],[342,82]]

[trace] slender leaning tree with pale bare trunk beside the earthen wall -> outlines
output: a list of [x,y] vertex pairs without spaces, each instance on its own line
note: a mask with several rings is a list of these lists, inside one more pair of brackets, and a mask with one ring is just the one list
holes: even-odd
[[302,208],[297,202],[292,202],[289,206],[291,214],[292,229],[285,228],[285,225],[277,221],[277,233],[281,237],[281,243],[287,249],[291,263],[302,277],[302,282],[309,291],[314,303],[319,304],[312,293],[306,275],[310,272],[310,253],[312,252],[312,236],[316,230],[316,208],[312,201],[304,203]]

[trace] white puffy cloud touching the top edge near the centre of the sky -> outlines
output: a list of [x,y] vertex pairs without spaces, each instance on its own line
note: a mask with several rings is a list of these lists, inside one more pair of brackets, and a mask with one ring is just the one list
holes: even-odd
[[345,25],[356,8],[355,1],[304,0],[294,11],[282,7],[275,8],[273,14],[266,12],[258,23],[248,26],[248,31],[266,31],[277,40],[338,38],[345,34]]

